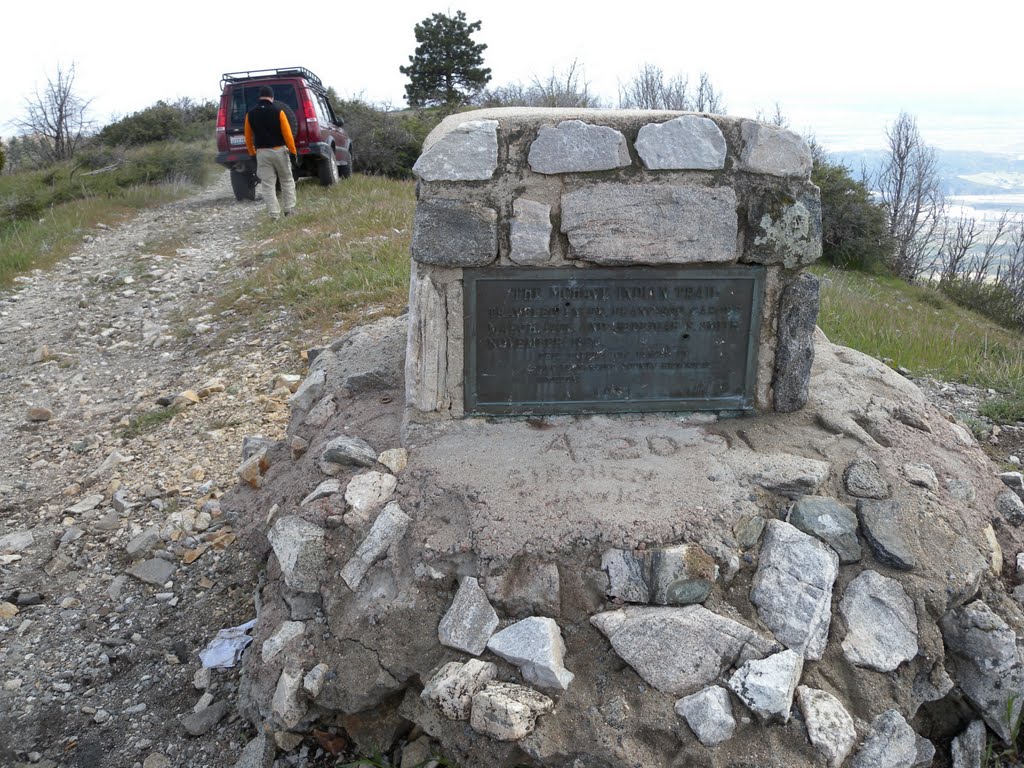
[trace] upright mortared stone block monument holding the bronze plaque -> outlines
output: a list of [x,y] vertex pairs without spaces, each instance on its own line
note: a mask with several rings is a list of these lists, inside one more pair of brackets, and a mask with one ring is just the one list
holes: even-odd
[[447,118],[414,169],[410,417],[800,409],[810,170],[802,138],[750,120]]

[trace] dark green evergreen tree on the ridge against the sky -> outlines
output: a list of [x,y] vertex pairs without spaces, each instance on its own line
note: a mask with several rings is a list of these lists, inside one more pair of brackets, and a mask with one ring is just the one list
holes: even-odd
[[464,104],[488,82],[490,70],[481,55],[487,47],[474,43],[479,22],[467,24],[466,14],[434,13],[416,25],[416,53],[398,71],[409,77],[406,100],[410,106]]

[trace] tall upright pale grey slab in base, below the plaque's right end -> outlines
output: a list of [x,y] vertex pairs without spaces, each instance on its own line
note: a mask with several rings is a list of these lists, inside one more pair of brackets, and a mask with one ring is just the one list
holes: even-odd
[[829,547],[788,523],[769,520],[751,602],[783,645],[818,659],[828,639],[838,574],[839,556]]

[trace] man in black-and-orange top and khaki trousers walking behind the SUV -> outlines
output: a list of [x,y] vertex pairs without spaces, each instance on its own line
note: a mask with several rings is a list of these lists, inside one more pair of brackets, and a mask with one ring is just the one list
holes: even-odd
[[[273,89],[260,86],[259,101],[246,115],[246,147],[256,157],[256,175],[263,183],[263,200],[271,219],[295,213],[295,177],[290,156],[298,155],[288,115],[273,101]],[[278,203],[278,180],[282,203]]]

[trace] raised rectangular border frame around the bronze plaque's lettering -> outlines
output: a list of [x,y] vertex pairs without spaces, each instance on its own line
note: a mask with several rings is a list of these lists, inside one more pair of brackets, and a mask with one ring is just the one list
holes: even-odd
[[[590,274],[588,274],[590,273]],[[630,266],[630,267],[476,267],[463,269],[463,406],[466,416],[554,416],[586,414],[636,414],[689,411],[718,411],[751,413],[757,386],[758,351],[761,344],[761,315],[764,308],[766,268],[762,265],[728,265],[709,267]],[[749,280],[753,283],[751,300],[751,327],[746,346],[746,372],[741,394],[729,397],[679,398],[649,400],[572,400],[548,402],[508,400],[501,402],[477,401],[476,390],[476,334],[470,307],[477,300],[476,286],[483,280],[543,280],[566,281],[571,287],[577,280],[602,278],[608,280],[709,280],[727,276],[729,280]],[[578,285],[578,284],[577,284]]]

